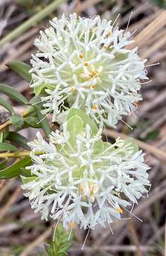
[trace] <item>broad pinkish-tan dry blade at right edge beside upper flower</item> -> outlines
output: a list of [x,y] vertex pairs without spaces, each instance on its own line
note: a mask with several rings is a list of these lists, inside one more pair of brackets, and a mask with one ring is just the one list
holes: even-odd
[[165,26],[166,24],[166,11],[155,18],[146,28],[143,29],[137,36],[135,36],[135,42],[129,48],[134,48],[136,46],[143,46],[147,43],[148,39],[153,36],[157,31]]

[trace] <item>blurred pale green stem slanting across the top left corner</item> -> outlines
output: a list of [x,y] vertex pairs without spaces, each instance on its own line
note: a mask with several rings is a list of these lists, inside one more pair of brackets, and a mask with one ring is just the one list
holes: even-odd
[[35,14],[33,17],[29,18],[21,26],[18,26],[18,28],[14,29],[11,33],[4,36],[4,38],[0,40],[0,46],[3,46],[4,43],[12,41],[17,36],[21,35],[21,33],[28,30],[28,28],[31,28],[31,26],[41,21],[43,18],[45,18],[45,16],[48,16],[50,13],[52,13],[52,11],[54,11],[57,8],[57,6],[63,1],[65,0],[55,0],[47,7],[45,7],[45,9],[40,11],[38,14]]

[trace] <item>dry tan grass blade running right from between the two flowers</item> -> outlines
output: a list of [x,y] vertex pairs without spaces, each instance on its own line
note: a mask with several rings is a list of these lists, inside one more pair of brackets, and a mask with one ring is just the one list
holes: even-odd
[[[120,132],[115,132],[114,130],[110,130],[110,129],[104,129],[103,134],[106,136],[109,136],[109,137],[114,137],[114,138],[118,138],[118,137],[121,137],[121,139],[130,138],[129,136],[127,136],[125,134],[121,134]],[[138,140],[138,139],[134,139],[134,141],[141,149],[149,151],[151,154],[154,154],[155,156],[159,157],[160,159],[166,160],[166,153],[164,151],[157,149],[155,146],[149,145],[145,142],[140,142],[140,140]]]

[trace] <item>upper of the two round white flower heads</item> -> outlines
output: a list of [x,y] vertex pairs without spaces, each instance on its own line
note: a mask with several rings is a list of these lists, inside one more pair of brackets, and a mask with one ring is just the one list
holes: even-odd
[[35,39],[31,87],[41,97],[43,114],[64,122],[71,107],[89,114],[98,126],[116,126],[122,115],[135,110],[140,81],[148,79],[131,33],[113,27],[111,21],[70,18],[50,21],[50,28]]

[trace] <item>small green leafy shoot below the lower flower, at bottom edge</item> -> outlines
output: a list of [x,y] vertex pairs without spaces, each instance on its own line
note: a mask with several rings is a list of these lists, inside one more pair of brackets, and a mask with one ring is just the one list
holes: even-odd
[[55,240],[51,241],[48,245],[45,246],[45,250],[48,256],[65,256],[68,255],[67,251],[72,246],[72,238],[73,234],[70,235],[66,232],[65,228],[63,228],[61,223],[58,223]]

